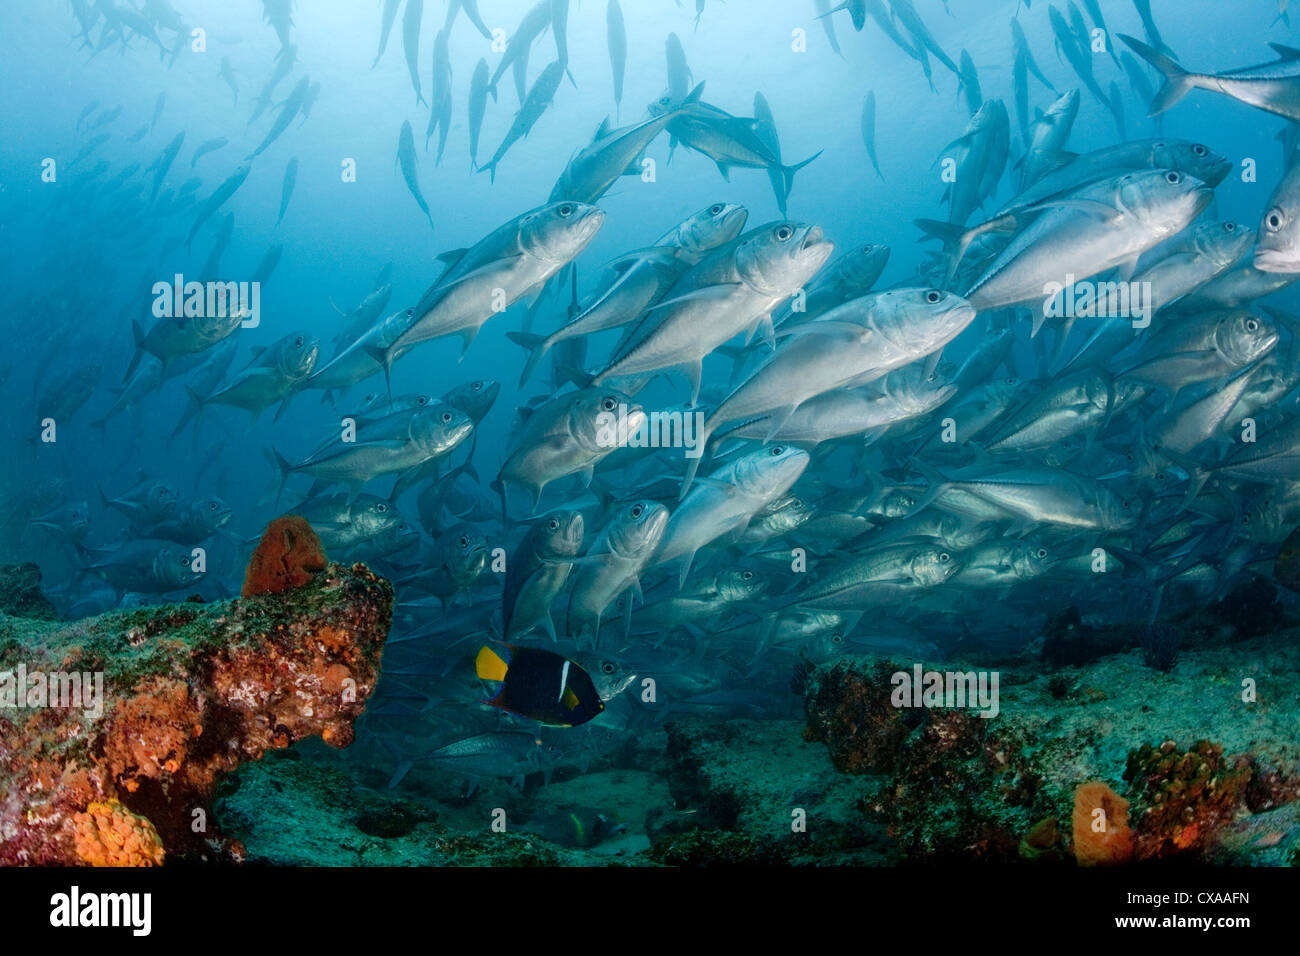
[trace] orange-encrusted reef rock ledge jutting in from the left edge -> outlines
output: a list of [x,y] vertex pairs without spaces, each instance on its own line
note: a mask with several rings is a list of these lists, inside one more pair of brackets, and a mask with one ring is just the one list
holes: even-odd
[[168,860],[239,858],[211,818],[218,778],[295,740],[351,743],[391,610],[387,581],[333,564],[278,596],[0,617],[0,674],[26,679],[0,706],[0,864],[153,860],[151,832]]

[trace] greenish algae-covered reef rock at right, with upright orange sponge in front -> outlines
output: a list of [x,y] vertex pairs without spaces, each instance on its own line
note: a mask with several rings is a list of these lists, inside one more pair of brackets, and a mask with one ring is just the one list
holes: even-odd
[[1300,797],[1295,636],[1201,644],[1170,672],[1140,648],[1063,671],[1030,658],[1000,672],[989,719],[896,709],[890,675],[914,662],[845,657],[803,676],[805,735],[905,860],[1231,862],[1253,855],[1238,834],[1254,817],[1290,819]]

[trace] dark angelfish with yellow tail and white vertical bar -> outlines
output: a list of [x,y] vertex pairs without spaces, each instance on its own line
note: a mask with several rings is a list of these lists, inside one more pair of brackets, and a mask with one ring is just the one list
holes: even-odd
[[497,696],[488,701],[494,708],[556,727],[576,727],[604,710],[590,675],[567,657],[540,648],[504,646],[504,658],[486,644],[474,658],[480,678],[500,682]]

